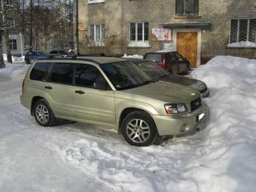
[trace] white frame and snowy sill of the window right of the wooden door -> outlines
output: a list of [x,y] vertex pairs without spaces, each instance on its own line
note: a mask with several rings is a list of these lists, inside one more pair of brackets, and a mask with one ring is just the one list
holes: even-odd
[[[237,34],[236,34],[236,42],[231,43],[231,20],[238,20],[237,23]],[[246,41],[239,41],[239,32],[240,32],[240,20],[247,20],[247,35]],[[229,38],[227,47],[244,47],[244,48],[256,48],[256,42],[248,41],[249,39],[249,31],[250,31],[250,22],[251,20],[256,20],[256,18],[230,18],[230,30],[229,30]],[[251,43],[251,44],[250,44]],[[248,45],[245,45],[248,44]],[[254,45],[253,45],[254,44]]]

